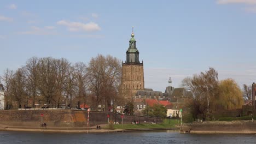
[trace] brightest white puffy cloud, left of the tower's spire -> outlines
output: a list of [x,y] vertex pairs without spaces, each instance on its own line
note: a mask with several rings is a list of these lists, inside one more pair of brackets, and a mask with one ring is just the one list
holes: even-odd
[[95,22],[69,22],[61,20],[57,22],[58,25],[63,25],[68,27],[68,31],[78,32],[78,31],[100,31],[101,28]]

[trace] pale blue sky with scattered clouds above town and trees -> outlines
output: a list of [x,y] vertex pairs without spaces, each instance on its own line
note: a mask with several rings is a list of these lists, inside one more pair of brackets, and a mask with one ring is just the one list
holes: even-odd
[[256,82],[256,0],[0,1],[0,75],[33,56],[125,61],[133,26],[146,88],[164,92],[170,76],[180,87],[210,67]]

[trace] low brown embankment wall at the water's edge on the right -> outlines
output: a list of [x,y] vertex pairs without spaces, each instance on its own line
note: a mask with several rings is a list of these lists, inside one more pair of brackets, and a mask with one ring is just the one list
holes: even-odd
[[212,134],[212,133],[239,133],[256,134],[256,122],[252,121],[231,121],[231,122],[194,122],[190,133]]

